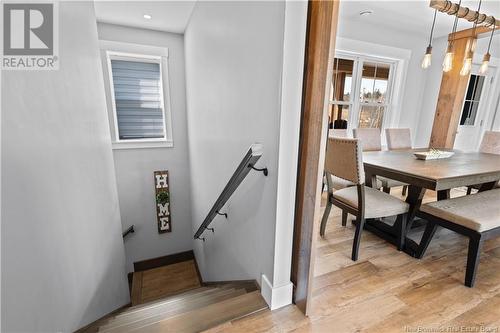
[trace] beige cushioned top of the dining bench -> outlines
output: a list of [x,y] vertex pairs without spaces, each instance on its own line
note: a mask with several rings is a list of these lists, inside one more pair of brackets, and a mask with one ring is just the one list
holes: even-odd
[[500,227],[500,189],[422,205],[422,212],[483,232]]

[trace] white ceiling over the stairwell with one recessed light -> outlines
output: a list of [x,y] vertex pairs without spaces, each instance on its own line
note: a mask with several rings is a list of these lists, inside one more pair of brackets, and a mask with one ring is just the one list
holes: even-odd
[[[95,1],[98,22],[183,33],[195,1]],[[150,20],[144,14],[151,15]]]

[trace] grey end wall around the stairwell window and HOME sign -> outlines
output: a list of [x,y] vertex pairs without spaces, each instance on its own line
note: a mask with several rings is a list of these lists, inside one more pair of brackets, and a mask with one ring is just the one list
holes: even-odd
[[[174,147],[113,150],[122,228],[135,225],[125,240],[127,269],[133,263],[192,249],[191,193],[186,116],[183,35],[98,24],[100,40],[168,48],[169,85]],[[104,59],[103,59],[104,60]],[[103,61],[103,67],[106,68]],[[108,75],[105,75],[108,110],[112,112]],[[170,91],[168,91],[170,87]],[[172,232],[158,233],[153,172],[169,170]]]

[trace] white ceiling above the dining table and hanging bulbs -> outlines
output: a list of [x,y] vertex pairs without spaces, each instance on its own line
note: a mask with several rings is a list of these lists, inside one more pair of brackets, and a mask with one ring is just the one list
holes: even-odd
[[[458,3],[458,0],[453,0],[453,2]],[[462,0],[462,6],[469,7],[472,10],[477,9],[478,3],[477,0]],[[359,12],[363,10],[373,10],[373,14],[360,16]],[[481,12],[500,17],[500,1],[483,0]],[[363,21],[414,34],[428,34],[433,15],[434,10],[429,7],[428,0],[343,0],[340,2],[340,16],[342,20]],[[441,37],[449,34],[453,26],[453,21],[453,16],[438,12],[434,36]],[[471,22],[459,20],[457,30],[468,28],[472,28]]]

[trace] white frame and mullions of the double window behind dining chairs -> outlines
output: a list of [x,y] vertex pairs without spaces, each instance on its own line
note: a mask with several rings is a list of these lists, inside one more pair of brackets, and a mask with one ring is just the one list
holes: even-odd
[[[359,116],[361,113],[362,106],[384,106],[384,119],[382,120],[382,128],[381,132],[384,132],[385,128],[393,126],[393,90],[394,90],[394,78],[395,72],[397,70],[398,60],[390,59],[384,57],[363,55],[354,52],[348,51],[339,51],[335,52],[335,58],[347,59],[354,61],[353,71],[352,71],[352,79],[351,79],[351,97],[348,102],[336,102],[334,100],[330,100],[330,105],[348,105],[349,106],[349,119],[347,120],[347,128],[352,130],[353,128],[357,128],[359,126]],[[387,79],[387,91],[385,102],[381,103],[362,103],[359,97],[361,90],[361,78],[363,75],[363,64],[365,62],[370,63],[379,63],[389,65],[389,78]]]

